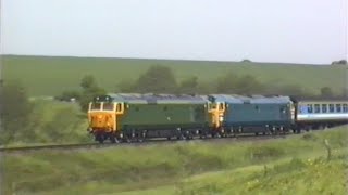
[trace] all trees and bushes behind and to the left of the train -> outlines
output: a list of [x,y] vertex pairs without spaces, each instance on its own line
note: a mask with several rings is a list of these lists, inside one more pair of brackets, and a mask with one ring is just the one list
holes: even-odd
[[[107,93],[95,77],[87,75],[82,78],[79,90],[64,91],[55,96],[60,101],[75,100],[80,110],[86,113],[88,103],[96,95]],[[171,93],[171,94],[282,94],[296,96],[314,96],[297,84],[265,84],[250,75],[238,76],[226,73],[220,78],[210,81],[200,81],[191,76],[177,81],[170,67],[153,65],[141,74],[135,81],[123,80],[116,84],[114,92],[136,93]],[[330,87],[321,88],[319,96],[347,96],[347,90],[341,94],[334,94]],[[53,120],[42,121],[45,113],[40,104],[28,100],[28,94],[18,81],[2,81],[0,83],[0,144],[14,140],[24,142],[63,142],[72,139],[86,139],[76,134],[76,125],[85,122],[86,116],[78,116],[72,106],[54,110]],[[40,131],[38,131],[40,129]]]

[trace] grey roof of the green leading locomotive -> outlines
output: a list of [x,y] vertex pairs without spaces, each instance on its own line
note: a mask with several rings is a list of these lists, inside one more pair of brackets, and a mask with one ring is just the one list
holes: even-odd
[[140,94],[140,93],[116,93],[109,94],[114,102],[127,103],[192,103],[203,104],[208,100],[202,95],[174,95],[174,94]]

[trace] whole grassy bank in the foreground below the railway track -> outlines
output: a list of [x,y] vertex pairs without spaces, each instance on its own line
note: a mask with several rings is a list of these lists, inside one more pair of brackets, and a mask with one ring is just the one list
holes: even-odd
[[343,127],[254,143],[7,154],[1,188],[4,194],[345,194],[347,136]]

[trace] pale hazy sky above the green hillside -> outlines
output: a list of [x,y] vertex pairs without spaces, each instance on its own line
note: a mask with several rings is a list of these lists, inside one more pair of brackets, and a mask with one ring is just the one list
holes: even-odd
[[1,0],[0,52],[328,64],[348,0]]

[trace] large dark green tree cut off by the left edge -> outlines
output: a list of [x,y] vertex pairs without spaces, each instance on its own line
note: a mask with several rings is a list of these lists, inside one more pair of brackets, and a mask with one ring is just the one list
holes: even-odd
[[9,143],[26,128],[33,106],[21,82],[5,82],[0,89],[0,141]]

